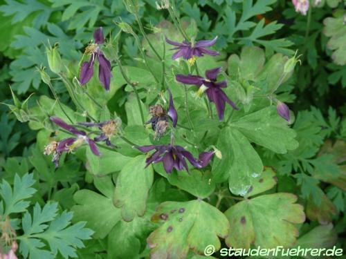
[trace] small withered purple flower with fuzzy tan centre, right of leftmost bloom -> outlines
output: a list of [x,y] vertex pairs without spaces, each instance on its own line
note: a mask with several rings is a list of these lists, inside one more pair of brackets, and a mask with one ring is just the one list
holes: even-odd
[[116,147],[111,144],[111,137],[118,133],[118,129],[120,126],[120,121],[116,121],[116,119],[111,119],[105,122],[93,123],[93,122],[78,122],[78,124],[87,126],[87,127],[98,127],[101,130],[100,135],[95,137],[93,140],[95,142],[105,142],[107,146],[111,146],[112,148]]

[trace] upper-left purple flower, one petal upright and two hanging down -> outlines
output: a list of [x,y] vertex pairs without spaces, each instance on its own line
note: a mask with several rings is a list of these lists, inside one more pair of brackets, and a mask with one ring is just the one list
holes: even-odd
[[95,44],[89,44],[86,47],[85,52],[91,55],[88,62],[82,64],[80,68],[80,84],[86,84],[91,77],[93,77],[93,66],[95,64],[95,57],[98,58],[98,78],[104,89],[109,90],[109,84],[111,83],[111,62],[104,57],[103,52],[100,50],[100,44],[104,43],[104,37],[102,27],[98,28],[93,32],[93,39]]

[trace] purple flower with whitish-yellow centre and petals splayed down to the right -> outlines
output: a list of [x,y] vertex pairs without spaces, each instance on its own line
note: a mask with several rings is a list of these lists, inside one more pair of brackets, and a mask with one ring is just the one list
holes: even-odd
[[206,92],[209,101],[213,102],[217,108],[220,121],[224,118],[226,102],[235,110],[238,110],[235,103],[232,102],[222,90],[222,88],[227,87],[226,81],[217,81],[217,75],[219,75],[221,69],[220,67],[206,70],[206,78],[198,75],[176,75],[176,81],[183,84],[193,84],[198,86],[200,93]]

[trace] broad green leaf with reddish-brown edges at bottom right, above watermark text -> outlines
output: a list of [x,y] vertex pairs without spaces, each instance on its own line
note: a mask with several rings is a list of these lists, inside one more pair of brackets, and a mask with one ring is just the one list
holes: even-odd
[[296,201],[291,193],[275,193],[238,202],[225,212],[230,222],[226,244],[235,249],[249,249],[252,244],[261,248],[292,246],[298,236],[295,224],[305,220],[303,207]]

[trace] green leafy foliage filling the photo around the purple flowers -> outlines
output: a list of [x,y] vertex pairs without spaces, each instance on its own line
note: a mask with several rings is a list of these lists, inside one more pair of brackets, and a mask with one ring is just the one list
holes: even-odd
[[[194,155],[214,144],[223,157],[214,158],[204,171],[167,175],[160,164],[144,169],[145,156],[120,139],[113,140],[120,147],[116,152],[100,148],[99,158],[82,147],[67,159],[63,156],[56,170],[43,155],[55,131],[48,116],[67,119],[37,71],[48,66],[47,46],[58,44],[65,76],[73,83],[93,30],[102,26],[131,81],[139,82],[145,115],[158,93],[164,95],[138,50],[144,48],[155,77],[161,78],[161,61],[147,41],[124,32],[115,37],[120,21],[139,32],[136,17],[122,1],[0,0],[0,32],[5,35],[0,99],[6,104],[0,106],[0,215],[10,218],[19,253],[24,258],[146,258],[149,253],[199,258],[195,253],[203,254],[207,244],[273,247],[277,242],[289,247],[335,244],[346,251],[345,2],[313,6],[311,1],[307,16],[284,0],[174,3],[190,37],[219,37],[221,55],[203,57],[197,64],[201,74],[223,66],[226,92],[242,109],[231,113],[226,108],[228,126],[219,124],[189,88],[194,133],[179,128],[176,142]],[[156,10],[154,0],[138,5],[160,54],[165,43],[156,32],[182,39],[167,10]],[[174,79],[176,73],[188,73],[188,67],[172,61],[169,47],[165,45],[163,57],[167,84],[179,123],[188,125],[183,87]],[[282,77],[295,50],[302,55],[301,64]],[[104,52],[111,57],[107,48]],[[118,115],[129,140],[151,144],[153,134],[142,126],[136,97],[116,62],[112,64],[110,93],[91,79],[85,88],[75,88],[75,94],[90,116],[105,120]],[[84,121],[66,81],[45,71],[64,111],[73,121]],[[100,109],[86,93],[106,108]],[[272,93],[293,111],[290,126],[263,97]],[[161,143],[167,141],[166,136]],[[184,212],[177,214],[181,208]],[[169,220],[162,220],[162,213]],[[168,227],[174,229],[171,236]]]

